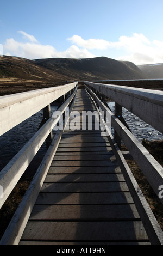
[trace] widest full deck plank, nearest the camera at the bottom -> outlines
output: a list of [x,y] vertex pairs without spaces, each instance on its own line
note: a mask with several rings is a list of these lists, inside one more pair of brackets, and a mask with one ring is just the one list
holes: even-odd
[[140,221],[41,222],[29,221],[22,235],[30,240],[148,240]]

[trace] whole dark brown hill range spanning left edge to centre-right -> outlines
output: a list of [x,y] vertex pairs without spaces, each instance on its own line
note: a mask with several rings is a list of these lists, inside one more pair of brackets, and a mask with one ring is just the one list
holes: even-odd
[[10,56],[0,57],[0,78],[12,77],[42,82],[148,78],[133,63],[118,62],[106,57],[36,60]]

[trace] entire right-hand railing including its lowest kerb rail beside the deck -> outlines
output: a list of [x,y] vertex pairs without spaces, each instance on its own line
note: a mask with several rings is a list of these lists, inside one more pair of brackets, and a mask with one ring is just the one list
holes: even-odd
[[[103,113],[101,113],[100,111],[99,115],[101,115],[103,124],[105,125],[105,134],[109,134],[108,139],[111,148],[114,151],[118,164],[120,165],[124,178],[129,187],[131,196],[133,197],[136,208],[140,214],[140,218],[147,231],[148,237],[153,245],[162,245],[162,230],[158,222],[156,221],[156,218],[154,217],[153,212],[149,207],[145,197],[143,196],[142,191],[140,190],[140,187],[137,184],[133,173],[131,173],[129,166],[123,157],[122,151],[118,146],[118,143],[120,143],[119,139],[117,143],[117,137],[114,138],[114,136],[110,132],[110,127],[107,127],[107,122],[105,123],[105,118],[108,118],[109,112],[111,115],[111,118],[109,118],[111,119],[111,126],[114,127],[119,138],[122,139],[124,144],[127,146],[131,156],[133,156],[133,159],[142,170],[142,173],[146,176],[146,179],[152,186],[156,195],[159,197],[161,203],[163,203],[162,196],[159,196],[160,192],[163,190],[163,168],[129,131],[126,123],[121,117],[121,107],[123,106],[127,108],[130,112],[137,114],[137,116],[141,117],[143,120],[148,120],[148,123],[153,124],[153,126],[157,127],[159,131],[162,131],[160,123],[162,123],[163,120],[163,93],[155,90],[132,89],[129,87],[110,85],[108,86],[104,84],[95,84],[90,82],[85,82],[85,84],[86,90],[92,97],[95,105],[104,112],[104,117]],[[117,117],[108,108],[108,105],[104,101],[105,97],[111,97],[112,100],[115,101],[115,105],[116,102],[118,102],[119,113]],[[154,117],[154,115],[156,115],[157,118],[154,118],[155,120],[153,121],[151,119]],[[152,118],[150,118],[150,116]],[[161,195],[162,193],[163,192],[161,192]]]

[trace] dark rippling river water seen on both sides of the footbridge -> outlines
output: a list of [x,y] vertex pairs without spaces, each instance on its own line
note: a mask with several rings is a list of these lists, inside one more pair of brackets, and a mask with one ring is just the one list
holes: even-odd
[[[109,107],[114,112],[114,102],[109,103]],[[55,111],[56,107],[51,106],[51,113]],[[126,120],[131,132],[141,142],[142,139],[148,139],[152,141],[154,139],[163,139],[162,133],[153,129],[134,114],[123,108],[123,117]],[[0,170],[14,157],[18,151],[29,141],[29,139],[37,131],[39,124],[43,118],[42,111],[34,114],[32,117],[23,121],[20,125],[17,125],[4,135],[0,137]],[[37,153],[39,159],[46,152],[46,144],[44,143]]]

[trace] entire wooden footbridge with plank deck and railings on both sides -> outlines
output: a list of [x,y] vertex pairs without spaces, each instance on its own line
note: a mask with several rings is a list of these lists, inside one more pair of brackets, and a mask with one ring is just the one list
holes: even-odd
[[[51,103],[61,97],[58,115],[50,117]],[[115,101],[114,114],[106,98]],[[46,119],[0,172],[1,207],[50,141],[1,245],[163,245],[162,230],[125,159],[133,157],[162,203],[163,169],[129,131],[122,107],[163,132],[163,93],[157,90],[91,82],[80,88],[74,82],[0,97],[0,135],[40,109]],[[128,152],[120,150],[121,141]]]

